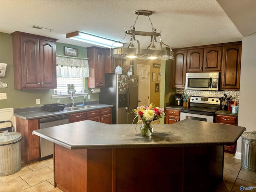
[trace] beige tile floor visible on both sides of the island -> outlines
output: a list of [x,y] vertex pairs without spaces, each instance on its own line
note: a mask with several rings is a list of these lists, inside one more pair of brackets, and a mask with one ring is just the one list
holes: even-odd
[[[224,154],[223,181],[216,192],[241,192],[240,187],[256,187],[256,172],[241,168],[241,160]],[[246,191],[256,192],[256,188]],[[22,163],[19,172],[0,176],[0,192],[60,192],[53,186],[53,159],[34,164]]]

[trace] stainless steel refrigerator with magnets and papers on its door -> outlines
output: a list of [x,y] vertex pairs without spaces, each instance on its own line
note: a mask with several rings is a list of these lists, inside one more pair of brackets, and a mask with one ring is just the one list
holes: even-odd
[[105,74],[100,103],[114,106],[112,124],[132,124],[135,115],[132,110],[138,107],[138,75]]

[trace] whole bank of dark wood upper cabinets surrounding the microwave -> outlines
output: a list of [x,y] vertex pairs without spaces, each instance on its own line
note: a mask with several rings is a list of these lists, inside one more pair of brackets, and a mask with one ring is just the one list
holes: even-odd
[[220,72],[220,90],[239,90],[241,46],[231,42],[174,50],[172,88],[185,88],[186,72]]

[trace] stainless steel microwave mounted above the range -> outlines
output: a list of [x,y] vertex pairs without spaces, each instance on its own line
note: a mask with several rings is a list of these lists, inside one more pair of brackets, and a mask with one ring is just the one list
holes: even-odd
[[220,86],[220,73],[186,73],[187,90],[218,91]]

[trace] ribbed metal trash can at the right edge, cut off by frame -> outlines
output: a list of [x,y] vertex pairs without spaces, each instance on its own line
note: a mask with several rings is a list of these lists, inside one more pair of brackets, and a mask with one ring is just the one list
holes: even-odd
[[256,131],[242,134],[242,167],[256,172]]

